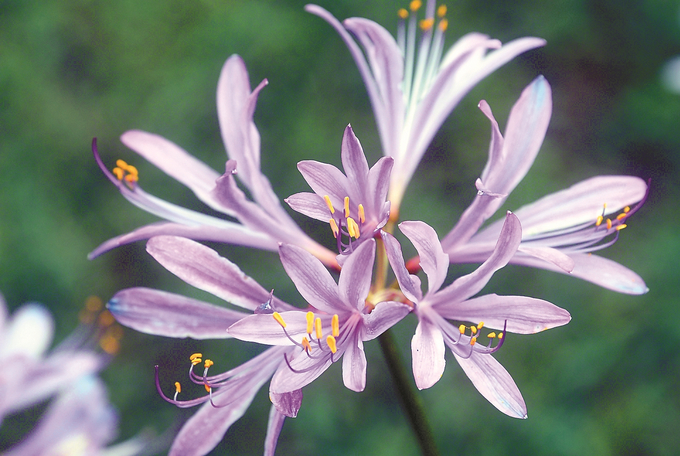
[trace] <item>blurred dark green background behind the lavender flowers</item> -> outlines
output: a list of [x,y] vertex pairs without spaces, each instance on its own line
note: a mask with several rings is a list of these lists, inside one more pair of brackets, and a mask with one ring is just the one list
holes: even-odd
[[[364,16],[396,30],[396,11],[407,2],[319,3],[336,17]],[[104,240],[155,220],[104,178],[90,142],[98,137],[109,166],[117,158],[137,166],[145,190],[201,208],[187,189],[136,157],[118,136],[132,128],[158,133],[222,170],[214,98],[220,68],[231,54],[245,59],[252,85],[269,79],[255,120],[264,172],[282,198],[307,190],[297,161],[339,163],[348,123],[369,162],[378,159],[375,123],[349,53],[303,5],[0,2],[0,290],[11,309],[26,301],[45,304],[55,316],[58,342],[76,328],[90,295],[107,300],[121,288],[149,286],[219,302],[155,264],[143,243],[86,259]],[[680,95],[664,88],[660,74],[680,54],[680,4],[461,0],[448,6],[448,43],[480,31],[504,42],[540,36],[548,45],[491,75],[454,111],[414,177],[403,219],[424,220],[442,235],[450,229],[472,199],[486,160],[489,125],[476,104],[486,99],[503,128],[510,106],[537,74],[553,87],[553,118],[508,209],[597,174],[651,178],[652,191],[620,241],[604,252],[637,271],[648,294],[620,295],[521,267],[495,275],[486,290],[547,299],[567,308],[573,320],[538,335],[511,337],[497,354],[522,390],[526,421],[497,412],[449,359],[441,381],[422,392],[442,454],[676,454]],[[326,228],[317,233],[326,236]],[[276,254],[219,250],[265,288],[297,299]],[[408,318],[396,331],[407,363],[413,328]],[[158,397],[154,364],[161,365],[169,394],[174,381],[186,383],[194,351],[215,360],[213,369],[226,370],[259,350],[237,341],[173,340],[126,330],[119,355],[102,374],[121,416],[120,439],[144,428],[161,433],[193,413]],[[278,454],[417,454],[377,343],[367,351],[366,391],[345,389],[339,366],[333,366],[305,389],[302,410],[287,420]],[[260,454],[268,410],[264,388],[215,454]],[[25,431],[19,421],[6,420],[0,450]]]

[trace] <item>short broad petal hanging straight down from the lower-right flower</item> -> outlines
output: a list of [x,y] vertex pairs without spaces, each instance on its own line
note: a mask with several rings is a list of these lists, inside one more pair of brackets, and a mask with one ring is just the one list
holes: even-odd
[[[419,316],[420,318],[420,316]],[[418,389],[429,388],[444,374],[444,338],[439,328],[427,317],[420,318],[411,339],[413,377]]]

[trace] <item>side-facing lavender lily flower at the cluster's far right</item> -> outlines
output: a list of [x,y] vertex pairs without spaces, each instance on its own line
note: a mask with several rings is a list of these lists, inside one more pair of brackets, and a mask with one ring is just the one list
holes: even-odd
[[[552,113],[550,86],[540,76],[524,89],[510,112],[505,136],[489,105],[482,101],[479,108],[491,121],[489,159],[475,184],[475,199],[442,239],[452,263],[482,262],[493,250],[503,220],[478,230],[533,164]],[[645,293],[637,274],[591,252],[618,239],[647,189],[637,177],[598,176],[522,207],[515,212],[522,221],[522,243],[510,262],[570,273],[622,293]]]

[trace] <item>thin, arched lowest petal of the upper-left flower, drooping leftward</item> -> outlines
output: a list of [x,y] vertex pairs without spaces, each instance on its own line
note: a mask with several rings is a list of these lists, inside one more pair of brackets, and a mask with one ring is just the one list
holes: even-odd
[[264,233],[253,231],[245,226],[226,220],[214,219],[220,226],[184,225],[180,223],[158,222],[139,227],[126,234],[121,234],[99,245],[87,255],[92,260],[109,250],[136,241],[150,239],[154,236],[181,236],[195,241],[215,241],[226,244],[244,245],[262,250],[275,251],[278,243]]

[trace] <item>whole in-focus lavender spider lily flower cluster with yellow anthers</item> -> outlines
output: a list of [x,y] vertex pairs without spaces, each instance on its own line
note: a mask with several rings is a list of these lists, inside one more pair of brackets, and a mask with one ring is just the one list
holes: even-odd
[[[227,60],[217,90],[219,124],[228,153],[224,174],[157,135],[130,131],[122,136],[124,144],[230,219],[200,214],[145,193],[135,167],[119,162],[109,172],[93,145],[97,163],[123,196],[166,222],[109,240],[91,257],[148,239],[147,251],[166,269],[238,307],[131,288],[110,300],[108,308],[115,318],[149,334],[236,338],[271,346],[219,374],[213,374],[213,360],[192,355],[189,380],[204,386],[206,393],[190,400],[180,398],[180,382],[173,394],[166,394],[156,368],[156,385],[166,401],[179,407],[203,404],[177,435],[171,454],[205,454],[213,449],[270,379],[272,409],[265,454],[274,454],[285,417],[295,417],[300,410],[302,389],[342,358],[345,386],[362,391],[367,377],[364,343],[409,314],[418,319],[411,341],[418,388],[430,388],[441,378],[448,346],[491,404],[509,416],[526,418],[519,388],[493,354],[507,346],[507,333],[533,334],[565,325],[571,317],[542,299],[476,296],[492,275],[513,263],[568,273],[622,293],[647,290],[634,272],[591,254],[615,242],[644,202],[647,184],[639,178],[593,177],[507,212],[482,228],[527,174],[543,142],[552,95],[541,76],[520,95],[504,134],[489,105],[479,103],[491,124],[491,141],[488,162],[474,187],[470,185],[472,203],[441,240],[425,222],[399,223],[399,231],[418,253],[405,260],[395,237],[399,207],[434,134],[478,81],[545,42],[520,38],[503,45],[471,33],[444,52],[446,8],[436,7],[432,0],[424,7],[414,0],[408,10],[399,11],[396,39],[370,20],[340,22],[318,6],[306,9],[326,20],[346,43],[365,82],[384,155],[369,167],[359,140],[347,126],[341,142],[344,172],[316,161],[299,163],[312,192],[297,193],[285,202],[327,223],[329,238],[333,236],[329,245],[335,251],[295,224],[260,171],[253,113],[266,80],[251,90],[238,56]],[[235,263],[197,242],[206,240],[277,250],[300,301],[296,305],[282,301],[274,291],[267,291],[276,284],[259,284]],[[479,266],[445,285],[451,263]],[[427,278],[425,292],[420,271]],[[392,284],[390,277],[395,279]],[[199,364],[203,371],[197,373],[194,368]]]

